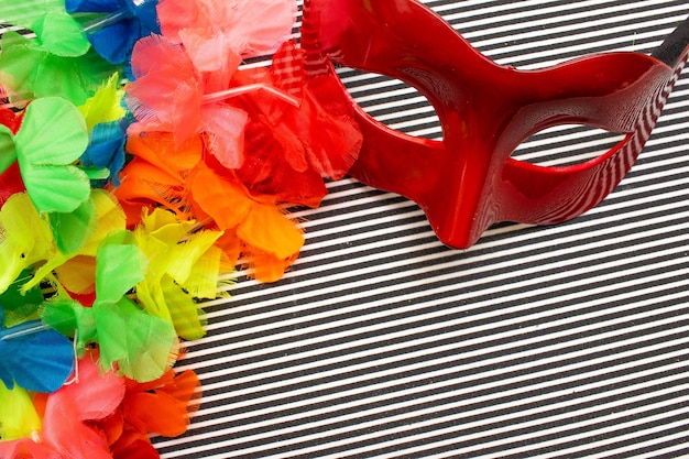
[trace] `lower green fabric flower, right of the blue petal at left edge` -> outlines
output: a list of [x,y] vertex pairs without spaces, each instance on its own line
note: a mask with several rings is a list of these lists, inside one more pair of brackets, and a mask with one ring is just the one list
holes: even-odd
[[47,302],[43,321],[75,337],[77,350],[97,342],[103,371],[118,370],[138,381],[162,375],[176,359],[177,335],[173,324],[153,316],[125,296],[144,278],[146,259],[133,234],[111,234],[96,256],[96,300],[90,308],[69,298]]

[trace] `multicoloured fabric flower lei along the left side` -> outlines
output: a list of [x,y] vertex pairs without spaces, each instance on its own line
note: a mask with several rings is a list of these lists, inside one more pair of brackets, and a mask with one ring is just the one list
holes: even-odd
[[238,264],[281,278],[304,243],[285,206],[318,206],[361,133],[304,70],[293,0],[0,14],[35,34],[0,42],[0,457],[158,457],[200,396],[173,369],[199,303]]

